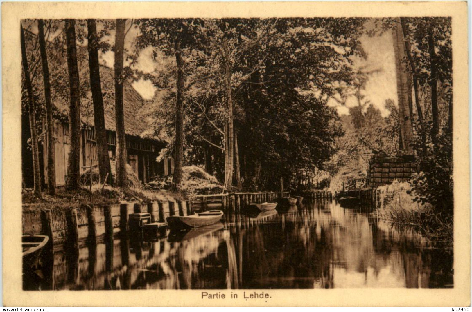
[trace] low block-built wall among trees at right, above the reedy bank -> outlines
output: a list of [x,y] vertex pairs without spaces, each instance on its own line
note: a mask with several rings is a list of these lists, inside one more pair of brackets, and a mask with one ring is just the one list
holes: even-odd
[[367,183],[370,186],[390,184],[392,181],[408,181],[416,172],[414,156],[388,157],[384,155],[373,156],[369,162]]

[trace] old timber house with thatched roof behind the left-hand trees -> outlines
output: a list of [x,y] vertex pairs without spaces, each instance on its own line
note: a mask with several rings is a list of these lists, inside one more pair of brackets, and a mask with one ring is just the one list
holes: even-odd
[[[39,57],[38,51],[34,50],[34,41],[36,36],[28,33],[26,41],[28,51],[34,51],[34,57]],[[67,56],[65,49],[57,48],[58,45],[48,44],[48,62],[51,76],[51,98],[54,105],[54,139],[55,139],[55,158],[56,158],[56,181],[58,185],[65,184],[67,173],[67,160],[69,152],[69,129],[68,129],[68,110],[69,110],[69,86],[67,73]],[[81,170],[86,166],[98,163],[96,137],[93,120],[93,102],[92,91],[90,90],[88,53],[86,47],[77,47],[78,68],[81,86]],[[32,57],[33,59],[33,57]],[[30,60],[31,62],[31,60]],[[33,62],[32,62],[33,63]],[[32,81],[37,91],[37,102],[43,102],[43,82],[41,62],[36,71],[32,70],[34,76]],[[112,68],[100,66],[101,89],[103,93],[103,106],[105,112],[105,128],[108,134],[108,148],[110,159],[115,157],[116,148],[116,124],[115,124],[115,88],[114,72]],[[143,106],[145,100],[133,88],[131,82],[124,82],[124,115],[126,131],[126,148],[128,164],[134,169],[136,175],[143,182],[148,182],[153,176],[158,174],[169,174],[173,170],[173,161],[171,159],[157,163],[156,158],[159,152],[167,143],[162,138],[153,135],[150,116],[144,112]],[[29,135],[29,120],[27,114],[22,116],[22,137],[23,137],[23,176],[26,187],[29,186],[30,176],[32,175],[31,151],[28,150],[27,140]],[[43,146],[46,146],[44,140]],[[43,164],[47,163],[47,149],[42,148],[40,157]],[[41,165],[44,178],[47,177],[47,168]]]

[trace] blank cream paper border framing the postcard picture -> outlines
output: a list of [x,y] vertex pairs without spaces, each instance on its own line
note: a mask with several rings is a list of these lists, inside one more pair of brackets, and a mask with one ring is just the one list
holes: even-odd
[[[452,16],[454,74],[454,288],[266,290],[270,299],[201,299],[200,290],[23,291],[21,278],[21,53],[23,18]],[[3,304],[7,306],[468,306],[470,184],[467,3],[464,2],[3,2]],[[218,290],[217,290],[218,291]],[[212,291],[212,292],[217,292]]]

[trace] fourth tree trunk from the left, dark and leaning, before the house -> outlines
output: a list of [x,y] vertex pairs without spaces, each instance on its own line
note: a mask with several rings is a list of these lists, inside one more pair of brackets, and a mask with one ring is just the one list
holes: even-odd
[[101,95],[100,66],[98,63],[97,27],[94,19],[87,20],[87,41],[89,54],[90,89],[92,90],[93,117],[97,136],[98,169],[100,183],[105,182],[107,173],[111,181],[110,157],[108,156],[107,131],[105,129],[105,114],[103,112],[103,97]]

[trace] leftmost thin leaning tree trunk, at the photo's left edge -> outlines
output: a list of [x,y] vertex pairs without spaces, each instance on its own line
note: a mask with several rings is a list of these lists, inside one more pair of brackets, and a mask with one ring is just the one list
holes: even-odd
[[25,31],[21,27],[21,58],[23,63],[23,74],[25,74],[25,86],[28,92],[28,111],[31,131],[31,147],[33,153],[33,193],[36,197],[41,197],[41,172],[39,170],[39,149],[38,136],[36,135],[36,116],[34,113],[33,86],[29,73],[28,59],[26,57]]

